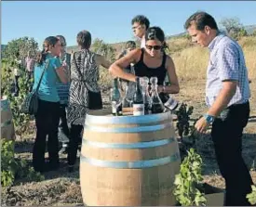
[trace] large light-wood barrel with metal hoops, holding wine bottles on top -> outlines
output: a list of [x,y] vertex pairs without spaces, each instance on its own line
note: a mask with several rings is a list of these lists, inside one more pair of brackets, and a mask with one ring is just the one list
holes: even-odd
[[[153,122],[136,123],[134,117],[135,123],[128,124],[122,123],[124,117],[120,117],[120,124],[116,117],[114,124],[86,121],[80,161],[81,191],[86,205],[175,205],[173,182],[181,160],[171,117],[157,122],[154,118],[159,115],[149,116]],[[163,127],[134,132],[151,130],[155,125]],[[107,132],[101,132],[104,126]],[[118,133],[115,128],[125,132]]]

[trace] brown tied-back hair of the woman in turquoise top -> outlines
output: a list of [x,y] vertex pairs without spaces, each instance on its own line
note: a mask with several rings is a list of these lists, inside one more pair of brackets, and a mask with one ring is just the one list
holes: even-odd
[[47,53],[50,49],[50,47],[56,45],[58,43],[58,41],[60,41],[57,37],[55,36],[48,36],[44,43],[43,43],[43,50],[41,52],[38,52],[36,55],[36,60],[35,62],[38,65],[42,65],[43,62],[46,60],[47,58]]

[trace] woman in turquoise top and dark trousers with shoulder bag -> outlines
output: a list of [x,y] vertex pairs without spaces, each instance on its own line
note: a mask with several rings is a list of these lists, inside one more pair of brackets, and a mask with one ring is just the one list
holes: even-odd
[[[60,97],[56,84],[67,83],[64,66],[61,66],[61,43],[57,37],[49,36],[43,44],[43,51],[38,53],[34,68],[34,89],[38,89],[38,110],[35,116],[36,137],[33,149],[34,170],[44,172],[59,168],[58,124],[60,120]],[[47,140],[48,137],[48,140]],[[45,163],[45,150],[49,159],[49,168]]]

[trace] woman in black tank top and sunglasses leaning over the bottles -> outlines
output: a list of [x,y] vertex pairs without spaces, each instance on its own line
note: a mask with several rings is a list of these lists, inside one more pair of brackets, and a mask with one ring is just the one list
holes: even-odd
[[[160,95],[179,93],[180,87],[173,60],[163,49],[165,46],[164,32],[159,27],[150,27],[145,33],[145,41],[145,48],[132,50],[125,57],[116,60],[110,67],[111,73],[131,82],[135,82],[136,77],[157,77]],[[124,70],[130,63],[134,64],[135,74]],[[171,84],[164,86],[167,72]]]

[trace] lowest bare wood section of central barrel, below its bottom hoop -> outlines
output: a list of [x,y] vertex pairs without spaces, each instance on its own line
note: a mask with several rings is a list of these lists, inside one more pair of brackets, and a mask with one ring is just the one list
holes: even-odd
[[87,186],[82,188],[83,201],[89,206],[174,205],[174,169],[179,166],[177,161],[157,168],[114,170],[85,162],[80,166],[85,173],[80,182]]

